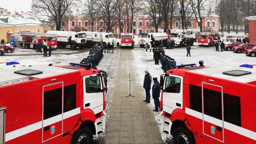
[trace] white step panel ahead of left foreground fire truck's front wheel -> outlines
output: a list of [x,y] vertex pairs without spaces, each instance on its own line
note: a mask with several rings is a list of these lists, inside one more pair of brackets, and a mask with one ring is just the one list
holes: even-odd
[[106,127],[106,113],[104,111],[102,113],[103,113],[103,115],[96,118],[96,121],[94,122],[95,130],[96,130],[96,134],[95,134],[96,137],[98,135],[102,134],[105,131],[105,127]]

